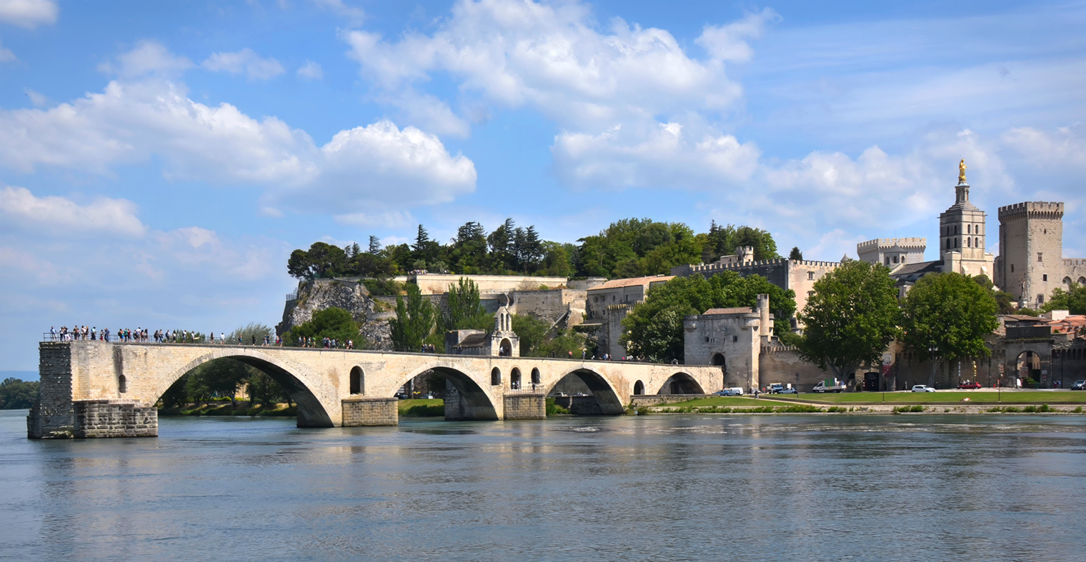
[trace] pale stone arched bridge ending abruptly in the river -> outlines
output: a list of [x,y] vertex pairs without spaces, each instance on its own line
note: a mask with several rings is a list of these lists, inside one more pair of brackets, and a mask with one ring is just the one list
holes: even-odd
[[635,394],[706,394],[719,367],[392,352],[101,341],[39,344],[41,392],[27,435],[157,435],[159,398],[185,373],[229,357],[279,382],[298,405],[299,427],[394,425],[394,394],[415,376],[445,375],[446,420],[545,417],[544,397],[567,376],[592,391],[591,411],[617,414]]

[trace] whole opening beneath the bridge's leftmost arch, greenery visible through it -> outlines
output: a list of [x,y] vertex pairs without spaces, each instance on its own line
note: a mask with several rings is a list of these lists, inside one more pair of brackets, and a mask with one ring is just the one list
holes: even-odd
[[[186,367],[187,370],[179,372],[157,398],[167,411],[186,405],[211,409],[212,404],[215,408],[231,410],[286,409],[294,411],[299,427],[334,425],[313,391],[294,373],[270,360],[249,355],[215,357],[211,354]],[[219,406],[213,398],[230,398],[230,404]]]

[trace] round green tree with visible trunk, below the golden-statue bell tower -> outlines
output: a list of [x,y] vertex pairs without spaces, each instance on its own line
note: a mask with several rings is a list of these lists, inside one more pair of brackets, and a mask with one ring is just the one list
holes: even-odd
[[927,274],[905,297],[902,340],[921,360],[931,359],[936,365],[963,357],[987,357],[990,350],[984,345],[984,336],[999,325],[995,297],[969,276]]

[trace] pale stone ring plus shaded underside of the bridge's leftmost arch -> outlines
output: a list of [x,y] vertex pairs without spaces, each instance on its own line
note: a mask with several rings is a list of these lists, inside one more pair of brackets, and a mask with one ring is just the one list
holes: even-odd
[[294,366],[288,366],[257,349],[243,347],[224,347],[222,349],[215,349],[209,354],[192,359],[166,378],[160,379],[159,385],[153,392],[154,396],[151,404],[159,401],[159,398],[161,398],[162,395],[165,394],[166,391],[168,391],[169,387],[186,373],[197,367],[200,367],[201,365],[214,361],[215,359],[235,359],[241,361],[250,367],[258,369],[279,383],[283,389],[287,391],[290,399],[298,405],[299,427],[331,427],[337,425],[337,423],[332,421],[332,414],[334,413],[336,418],[339,418],[340,410],[337,407],[339,405],[323,404],[318,397],[319,394],[320,396],[329,396],[334,399],[336,392],[333,389],[324,388],[323,385],[316,382],[315,378],[308,375],[308,373],[303,372]]

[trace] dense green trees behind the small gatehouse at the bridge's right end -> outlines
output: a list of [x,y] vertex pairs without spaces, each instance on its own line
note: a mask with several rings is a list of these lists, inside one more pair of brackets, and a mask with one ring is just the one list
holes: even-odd
[[634,357],[667,362],[683,357],[683,318],[709,308],[758,306],[758,295],[769,295],[775,317],[774,330],[787,332],[795,314],[795,292],[783,290],[760,276],[740,277],[724,271],[706,280],[702,276],[677,277],[649,290],[645,302],[622,320],[627,332],[621,342]]

